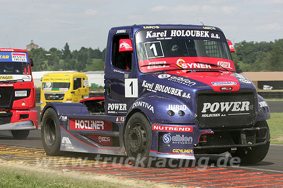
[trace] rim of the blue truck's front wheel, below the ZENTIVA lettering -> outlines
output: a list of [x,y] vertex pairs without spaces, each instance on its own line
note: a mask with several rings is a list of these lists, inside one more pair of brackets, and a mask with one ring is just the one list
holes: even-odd
[[132,156],[136,157],[138,154],[143,156],[146,149],[147,135],[145,128],[140,123],[135,123],[129,134],[129,148]]

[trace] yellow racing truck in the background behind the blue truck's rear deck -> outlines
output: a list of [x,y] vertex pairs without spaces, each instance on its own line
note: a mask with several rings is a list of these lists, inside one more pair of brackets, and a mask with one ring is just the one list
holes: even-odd
[[41,110],[48,102],[79,102],[89,98],[86,74],[78,72],[47,73],[42,77]]

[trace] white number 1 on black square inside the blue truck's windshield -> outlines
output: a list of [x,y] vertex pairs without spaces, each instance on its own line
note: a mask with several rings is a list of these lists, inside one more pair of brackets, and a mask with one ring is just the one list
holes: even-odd
[[154,41],[149,43],[144,43],[147,58],[164,57],[163,49],[161,46],[161,41]]

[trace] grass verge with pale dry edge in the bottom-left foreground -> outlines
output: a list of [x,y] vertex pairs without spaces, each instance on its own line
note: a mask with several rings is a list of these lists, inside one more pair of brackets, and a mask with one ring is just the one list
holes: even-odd
[[50,169],[30,164],[0,162],[0,187],[170,187],[149,181],[119,178],[94,173]]

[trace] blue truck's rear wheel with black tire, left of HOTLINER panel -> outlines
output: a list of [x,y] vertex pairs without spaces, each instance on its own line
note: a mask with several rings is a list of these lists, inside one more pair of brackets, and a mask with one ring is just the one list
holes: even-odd
[[60,122],[57,113],[52,108],[48,108],[42,117],[41,141],[47,155],[60,155]]

